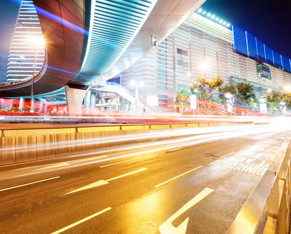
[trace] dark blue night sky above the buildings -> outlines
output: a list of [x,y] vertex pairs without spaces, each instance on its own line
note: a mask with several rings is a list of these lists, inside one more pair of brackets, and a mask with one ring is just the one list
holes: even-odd
[[[9,53],[19,2],[0,0],[0,54]],[[291,0],[207,0],[202,8],[291,58]]]

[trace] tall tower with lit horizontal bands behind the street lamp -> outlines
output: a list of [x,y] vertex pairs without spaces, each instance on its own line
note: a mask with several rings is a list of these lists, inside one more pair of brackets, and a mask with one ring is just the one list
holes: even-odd
[[[36,53],[32,38],[43,39],[41,26],[32,0],[22,0],[9,51],[7,81],[32,77]],[[44,58],[44,46],[38,46],[35,74],[43,66]]]

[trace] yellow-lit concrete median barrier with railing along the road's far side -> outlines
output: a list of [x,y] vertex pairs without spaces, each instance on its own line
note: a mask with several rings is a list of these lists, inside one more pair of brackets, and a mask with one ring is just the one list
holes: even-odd
[[[45,158],[54,158],[93,152],[98,150],[118,149],[119,147],[185,137],[183,135],[162,136],[164,130],[224,126],[230,124],[253,124],[253,122],[210,122],[210,123],[175,123],[175,124],[135,124],[135,125],[76,125],[68,128],[46,126],[43,129],[1,130],[0,165],[28,162]],[[155,132],[157,137],[155,137]],[[151,138],[133,139],[125,136],[151,133]],[[19,135],[18,135],[19,134]],[[27,134],[27,135],[25,135]],[[195,131],[193,132],[193,135]],[[187,136],[190,136],[189,134]],[[108,141],[109,139],[115,141]],[[116,141],[116,139],[119,139]]]

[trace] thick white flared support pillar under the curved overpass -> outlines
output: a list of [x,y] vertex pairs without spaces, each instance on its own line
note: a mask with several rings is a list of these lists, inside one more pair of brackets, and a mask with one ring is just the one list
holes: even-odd
[[88,89],[84,90],[70,88],[68,85],[65,86],[67,112],[69,114],[82,114],[82,102]]

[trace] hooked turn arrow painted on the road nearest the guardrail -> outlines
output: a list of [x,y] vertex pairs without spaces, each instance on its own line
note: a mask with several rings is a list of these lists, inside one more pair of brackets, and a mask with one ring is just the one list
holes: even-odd
[[185,234],[187,230],[187,225],[189,217],[187,217],[177,228],[172,225],[172,222],[182,215],[184,212],[189,210],[196,203],[207,197],[212,193],[214,189],[205,188],[199,194],[197,194],[193,199],[188,201],[185,205],[182,206],[174,215],[169,217],[159,228],[161,234]]

